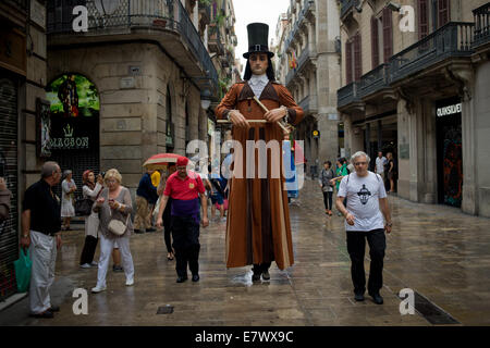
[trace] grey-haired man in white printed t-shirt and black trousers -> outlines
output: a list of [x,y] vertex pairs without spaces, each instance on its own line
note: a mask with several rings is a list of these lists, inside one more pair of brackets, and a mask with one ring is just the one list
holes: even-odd
[[[379,174],[368,171],[369,161],[369,156],[365,152],[353,154],[351,162],[355,166],[355,173],[342,178],[335,203],[345,216],[354,298],[356,301],[363,301],[366,291],[364,254],[367,239],[371,258],[368,294],[375,303],[382,304],[380,289],[383,285],[382,271],[387,248],[384,232],[391,233],[392,223],[384,183]],[[347,198],[347,207],[343,203],[344,198]]]

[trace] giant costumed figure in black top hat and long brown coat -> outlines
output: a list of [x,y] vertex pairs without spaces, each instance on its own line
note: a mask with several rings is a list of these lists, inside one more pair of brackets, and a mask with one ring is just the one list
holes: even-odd
[[[283,270],[293,264],[287,194],[284,176],[271,178],[271,165],[282,169],[283,129],[278,122],[297,124],[303,110],[296,104],[290,91],[274,80],[268,48],[269,26],[253,23],[247,26],[248,52],[244,80],[234,84],[216,109],[218,119],[233,123],[232,137],[242,145],[243,153],[234,151],[233,177],[230,186],[229,215],[226,222],[226,266],[237,268],[254,264],[253,279],[269,278],[268,269],[275,261]],[[265,112],[254,96],[269,110]],[[264,120],[267,123],[252,123],[247,120]],[[267,154],[267,178],[259,178],[258,159],[255,152],[254,178],[247,178],[248,153],[246,140],[277,140],[278,159]],[[236,177],[237,166],[243,166],[242,178]]]

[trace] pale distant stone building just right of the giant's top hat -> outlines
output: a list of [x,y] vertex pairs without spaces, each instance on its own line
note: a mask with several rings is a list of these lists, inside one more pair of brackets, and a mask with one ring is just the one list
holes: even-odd
[[341,153],[339,8],[334,0],[291,0],[286,18],[278,23],[278,77],[305,110],[296,138],[305,141],[307,173],[318,175],[323,161]]

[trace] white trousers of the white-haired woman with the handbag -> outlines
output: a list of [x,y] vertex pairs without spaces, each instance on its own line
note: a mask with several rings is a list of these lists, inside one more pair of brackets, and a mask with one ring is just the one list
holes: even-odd
[[134,279],[134,265],[133,257],[131,256],[130,250],[130,236],[118,239],[109,239],[100,234],[100,258],[99,269],[97,272],[97,287],[106,286],[107,271],[109,269],[111,253],[115,243],[118,244],[121,252],[122,266],[124,269],[124,274],[126,275],[126,281]]

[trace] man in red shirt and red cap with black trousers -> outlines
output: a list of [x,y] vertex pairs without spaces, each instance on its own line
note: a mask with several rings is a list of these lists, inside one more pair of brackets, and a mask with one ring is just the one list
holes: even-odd
[[193,274],[193,282],[199,281],[199,194],[204,211],[203,227],[209,224],[207,199],[204,195],[206,189],[199,175],[191,171],[187,173],[187,163],[188,159],[181,157],[176,162],[176,172],[167,179],[157,219],[157,226],[161,228],[163,211],[171,197],[172,238],[177,283],[187,281],[187,263]]

